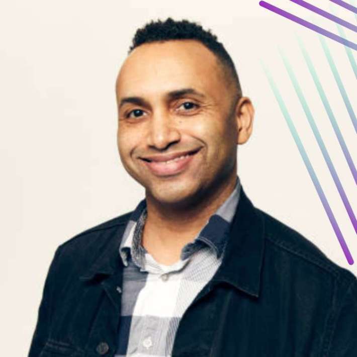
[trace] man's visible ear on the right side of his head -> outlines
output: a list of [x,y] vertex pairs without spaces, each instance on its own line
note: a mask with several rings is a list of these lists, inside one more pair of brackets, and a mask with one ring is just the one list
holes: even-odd
[[254,107],[248,97],[242,97],[237,102],[235,118],[238,128],[237,144],[244,144],[252,133],[254,120]]

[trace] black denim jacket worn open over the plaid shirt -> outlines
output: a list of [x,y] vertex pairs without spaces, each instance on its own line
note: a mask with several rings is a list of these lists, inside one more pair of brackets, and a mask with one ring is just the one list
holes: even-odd
[[[130,214],[57,248],[29,357],[115,355]],[[223,262],[177,329],[184,356],[356,357],[356,278],[242,190]]]

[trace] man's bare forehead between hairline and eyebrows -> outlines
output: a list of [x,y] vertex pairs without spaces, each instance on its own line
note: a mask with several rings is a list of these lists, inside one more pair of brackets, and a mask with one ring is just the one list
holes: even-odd
[[150,95],[193,87],[203,92],[224,86],[217,57],[195,40],[170,40],[135,48],[122,65],[117,94]]

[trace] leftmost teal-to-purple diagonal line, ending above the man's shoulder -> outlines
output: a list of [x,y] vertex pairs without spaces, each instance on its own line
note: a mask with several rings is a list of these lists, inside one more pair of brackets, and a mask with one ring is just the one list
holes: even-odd
[[315,187],[316,192],[317,192],[317,194],[318,194],[318,196],[320,198],[322,206],[325,209],[327,217],[328,217],[328,219],[329,219],[329,221],[330,221],[330,223],[332,225],[332,229],[336,234],[336,237],[337,237],[338,242],[339,242],[339,244],[340,244],[340,246],[342,248],[344,256],[346,257],[348,264],[352,265],[353,262],[354,262],[353,261],[353,257],[352,257],[352,255],[351,255],[351,253],[350,253],[350,251],[348,249],[348,246],[347,246],[347,244],[346,244],[346,242],[345,242],[345,240],[343,238],[342,232],[341,232],[341,230],[340,230],[340,228],[339,228],[339,226],[337,224],[335,216],[332,213],[331,207],[328,204],[327,198],[326,198],[326,196],[325,196],[325,194],[324,194],[324,192],[322,190],[322,187],[321,187],[320,182],[319,182],[319,180],[318,180],[318,178],[316,176],[315,170],[312,167],[312,164],[311,164],[311,162],[309,160],[309,157],[307,156],[307,153],[305,151],[304,145],[302,144],[302,142],[300,140],[299,134],[298,134],[298,132],[297,132],[297,130],[295,128],[295,125],[294,125],[294,123],[293,123],[293,121],[292,121],[292,119],[290,117],[288,109],[287,109],[287,107],[286,107],[286,105],[285,105],[285,103],[283,101],[283,98],[282,98],[282,96],[281,96],[281,94],[280,94],[280,92],[278,90],[278,87],[276,86],[276,84],[275,84],[270,72],[265,68],[263,63],[261,63],[261,64],[262,64],[262,67],[264,69],[265,75],[266,75],[266,77],[267,77],[267,79],[268,79],[268,81],[270,83],[270,86],[271,86],[271,88],[273,90],[274,96],[277,99],[277,102],[279,104],[280,110],[282,111],[283,116],[285,118],[285,121],[287,122],[288,127],[290,129],[290,132],[293,135],[293,139],[295,141],[295,144],[298,147],[300,155],[301,155],[301,157],[302,157],[302,159],[303,159],[303,161],[305,163],[305,166],[307,168],[307,171],[309,172],[310,178],[312,180],[312,183],[314,184],[314,187]]

